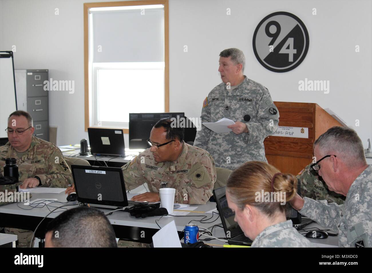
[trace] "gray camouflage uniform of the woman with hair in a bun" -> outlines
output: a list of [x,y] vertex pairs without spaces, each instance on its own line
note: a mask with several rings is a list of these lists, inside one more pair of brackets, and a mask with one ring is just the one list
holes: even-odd
[[298,233],[291,220],[265,228],[254,239],[251,247],[313,247],[311,242]]

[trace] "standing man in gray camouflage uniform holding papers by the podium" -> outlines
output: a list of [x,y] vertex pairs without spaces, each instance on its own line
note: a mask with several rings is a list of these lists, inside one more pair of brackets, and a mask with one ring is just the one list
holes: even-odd
[[229,118],[235,124],[228,126],[232,129],[228,133],[203,126],[196,132],[194,146],[211,153],[220,168],[235,169],[253,160],[267,162],[263,140],[278,129],[278,109],[267,88],[243,75],[246,60],[242,51],[225,49],[219,56],[223,82],[205,98],[201,119],[204,123]]

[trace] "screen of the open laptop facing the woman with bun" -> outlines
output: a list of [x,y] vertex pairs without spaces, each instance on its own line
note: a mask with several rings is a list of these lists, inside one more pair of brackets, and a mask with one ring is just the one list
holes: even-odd
[[232,210],[228,207],[226,199],[226,186],[215,189],[213,192],[225,233],[230,231],[231,237],[242,234],[243,231],[239,227],[238,223],[234,221],[235,213],[232,212]]

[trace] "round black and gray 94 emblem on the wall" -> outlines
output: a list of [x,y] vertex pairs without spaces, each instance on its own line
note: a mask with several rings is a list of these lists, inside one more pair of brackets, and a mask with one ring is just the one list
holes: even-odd
[[309,33],[292,13],[269,14],[254,30],[254,55],[270,71],[291,71],[305,59],[308,49]]

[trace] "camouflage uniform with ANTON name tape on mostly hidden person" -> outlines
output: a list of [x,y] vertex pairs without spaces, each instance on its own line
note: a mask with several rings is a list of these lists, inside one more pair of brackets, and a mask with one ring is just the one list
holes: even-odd
[[323,178],[318,175],[316,170],[310,167],[311,164],[296,176],[301,184],[301,196],[314,200],[327,200],[328,203],[343,204],[346,197],[330,191]]

